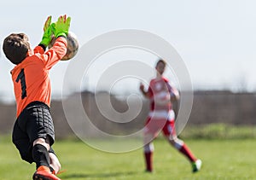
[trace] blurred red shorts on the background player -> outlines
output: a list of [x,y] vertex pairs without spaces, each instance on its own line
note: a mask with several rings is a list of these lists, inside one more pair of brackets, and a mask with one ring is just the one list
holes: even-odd
[[158,136],[160,131],[165,136],[176,136],[174,119],[167,120],[148,117],[144,130],[144,134],[153,134],[154,137]]

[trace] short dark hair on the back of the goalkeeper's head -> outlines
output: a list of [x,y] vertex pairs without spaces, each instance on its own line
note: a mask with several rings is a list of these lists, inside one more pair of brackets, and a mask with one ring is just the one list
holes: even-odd
[[30,44],[24,33],[12,33],[3,40],[3,52],[15,65],[26,58],[28,49]]

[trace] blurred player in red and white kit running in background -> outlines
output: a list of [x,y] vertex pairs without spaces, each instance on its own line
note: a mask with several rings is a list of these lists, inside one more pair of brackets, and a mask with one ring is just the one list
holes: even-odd
[[168,79],[163,77],[166,69],[166,61],[159,60],[156,63],[156,78],[150,81],[148,90],[144,90],[144,85],[140,84],[143,96],[150,100],[150,112],[144,128],[144,157],[146,161],[146,171],[153,171],[153,140],[162,131],[168,142],[172,144],[181,154],[185,155],[192,165],[192,171],[201,169],[201,160],[189,150],[188,146],[177,138],[175,131],[175,113],[172,110],[172,102],[179,99],[176,88],[171,86]]

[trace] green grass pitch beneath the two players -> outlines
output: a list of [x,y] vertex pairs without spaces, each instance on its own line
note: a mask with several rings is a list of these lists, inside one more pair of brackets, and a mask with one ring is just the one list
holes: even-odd
[[[202,170],[193,174],[189,161],[164,139],[154,141],[154,173],[144,172],[143,149],[110,154],[88,147],[84,142],[56,141],[64,180],[82,179],[254,179],[256,176],[255,139],[185,141],[203,161]],[[35,165],[20,160],[9,138],[0,136],[0,179],[32,179]]]

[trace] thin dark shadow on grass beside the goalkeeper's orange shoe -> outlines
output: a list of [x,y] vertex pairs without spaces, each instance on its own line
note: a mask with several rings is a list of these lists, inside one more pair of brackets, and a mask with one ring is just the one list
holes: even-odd
[[73,174],[68,174],[66,176],[61,176],[63,179],[70,179],[70,178],[86,178],[86,177],[91,177],[91,178],[106,178],[106,177],[121,177],[121,176],[130,176],[137,174],[135,171],[126,171],[126,172],[106,172],[106,173],[96,173],[96,174],[86,174],[86,173],[73,173]]

